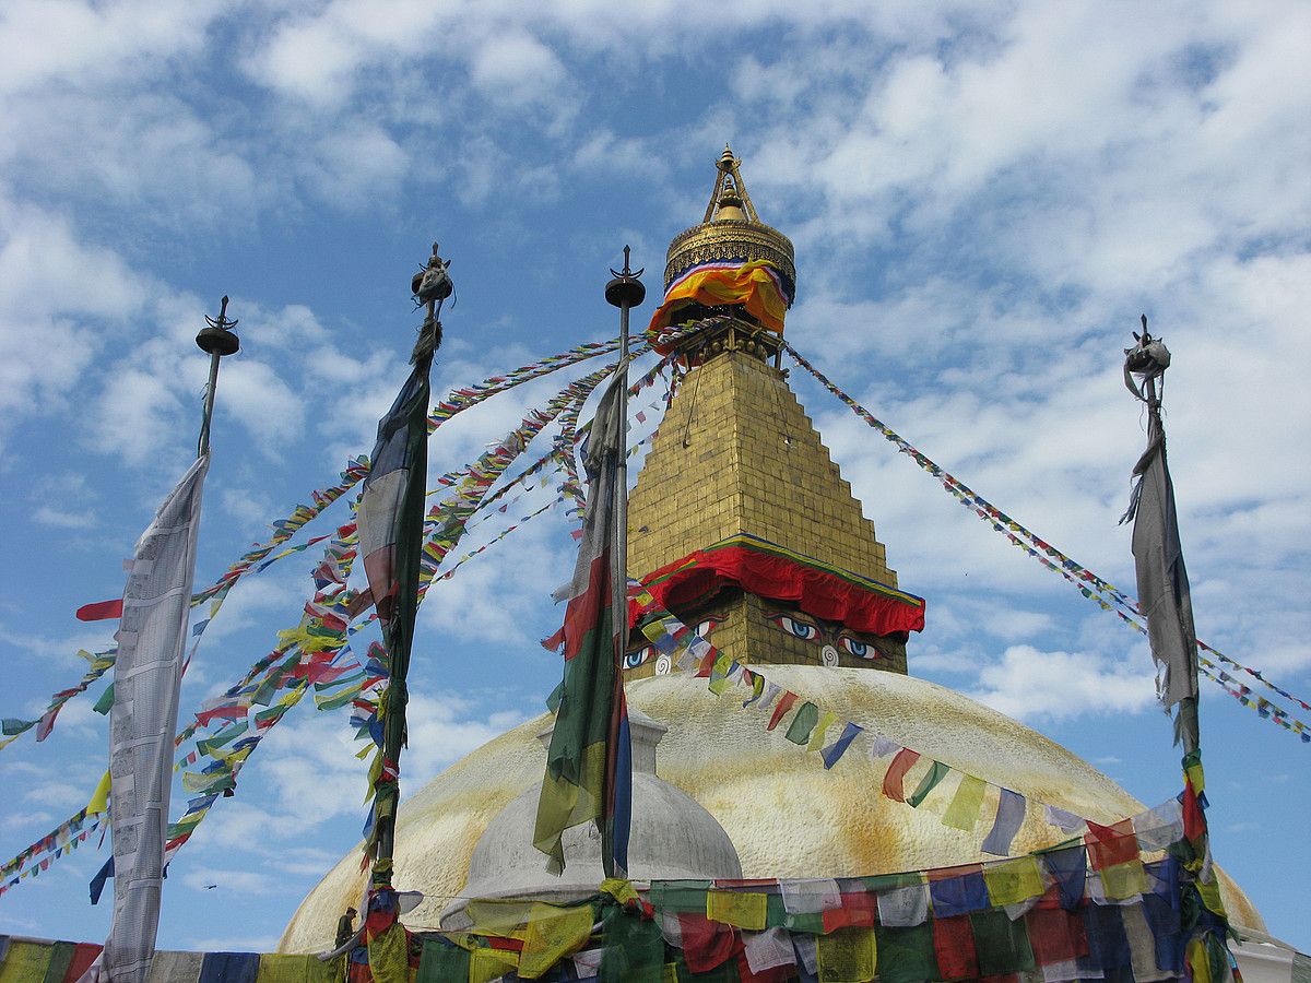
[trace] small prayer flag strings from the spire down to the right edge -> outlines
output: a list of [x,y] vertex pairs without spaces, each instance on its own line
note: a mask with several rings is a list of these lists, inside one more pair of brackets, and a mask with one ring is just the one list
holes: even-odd
[[[979,495],[971,488],[961,482],[953,474],[943,469],[940,465],[929,460],[926,455],[920,453],[910,442],[902,438],[897,431],[884,423],[881,419],[874,417],[869,410],[851,398],[846,392],[838,388],[823,372],[815,368],[809,360],[806,360],[792,345],[783,341],[783,347],[787,350],[788,355],[802,368],[810,372],[812,376],[830,393],[836,396],[848,409],[852,410],[857,417],[860,417],[872,429],[878,431],[884,438],[893,443],[902,453],[911,457],[922,469],[928,472],[932,477],[943,485],[943,488],[950,493],[961,505],[973,511],[985,523],[992,527],[994,531],[1002,533],[1007,537],[1011,545],[1021,549],[1028,556],[1037,560],[1049,570],[1061,574],[1080,595],[1096,603],[1101,609],[1110,611],[1120,617],[1121,621],[1127,624],[1130,628],[1139,633],[1146,633],[1146,628],[1139,623],[1138,619],[1142,617],[1142,612],[1137,600],[1130,595],[1125,594],[1114,585],[1109,583],[1104,578],[1099,577],[1092,570],[1075,562],[1068,556],[1062,553],[1059,549],[1053,547],[1050,543],[1038,537],[1034,532],[1028,530],[1025,526],[1016,522],[1012,516],[1000,511],[996,506],[988,502],[986,498]],[[1289,691],[1276,685],[1268,680],[1260,671],[1248,668],[1243,663],[1231,659],[1224,655],[1218,649],[1211,647],[1202,640],[1197,640],[1197,647],[1209,651],[1215,658],[1232,665],[1244,672],[1251,674],[1255,679],[1260,680],[1264,685],[1269,687],[1272,691],[1280,693],[1287,700],[1293,700],[1302,709],[1311,710],[1311,704],[1301,700]],[[1213,682],[1223,685],[1223,680],[1215,676],[1207,675]],[[1228,687],[1226,687],[1228,689]],[[1293,718],[1286,710],[1277,709],[1273,704],[1268,701],[1248,701],[1247,693],[1236,689],[1228,689],[1231,696],[1239,699],[1243,705],[1249,705],[1256,709],[1262,717],[1273,720],[1276,723],[1282,726],[1285,730],[1297,734],[1303,743],[1311,743],[1311,725]],[[1264,710],[1264,712],[1262,712]]]

